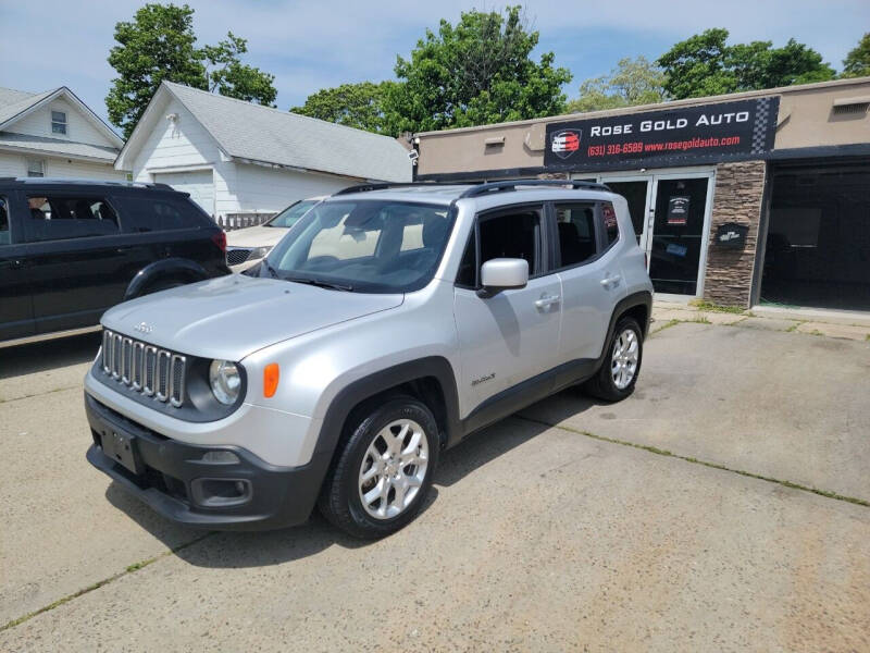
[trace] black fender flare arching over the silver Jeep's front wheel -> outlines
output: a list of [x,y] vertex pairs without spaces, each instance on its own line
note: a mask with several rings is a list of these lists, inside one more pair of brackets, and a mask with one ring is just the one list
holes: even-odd
[[428,356],[380,370],[343,387],[326,408],[314,455],[332,458],[347,418],[356,406],[390,387],[427,377],[434,378],[440,385],[446,411],[447,442],[453,442],[459,436],[461,429],[456,374],[446,358]]

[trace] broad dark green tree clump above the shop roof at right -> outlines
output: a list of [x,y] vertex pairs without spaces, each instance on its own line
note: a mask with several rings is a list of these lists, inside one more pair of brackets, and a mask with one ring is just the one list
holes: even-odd
[[823,82],[834,70],[812,48],[790,39],[729,46],[728,29],[707,29],[675,44],[657,63],[664,90],[674,99]]

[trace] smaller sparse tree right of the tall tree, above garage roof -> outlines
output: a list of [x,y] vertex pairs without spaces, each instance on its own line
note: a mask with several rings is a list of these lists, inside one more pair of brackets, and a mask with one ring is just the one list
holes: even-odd
[[275,76],[241,63],[240,58],[247,51],[248,40],[232,32],[227,32],[226,40],[202,48],[206,61],[212,66],[208,71],[209,90],[272,107],[277,97],[277,90],[272,84]]

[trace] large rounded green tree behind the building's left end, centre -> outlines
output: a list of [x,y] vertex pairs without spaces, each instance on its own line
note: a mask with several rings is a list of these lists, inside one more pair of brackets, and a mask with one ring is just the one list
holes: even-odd
[[401,82],[385,94],[387,123],[394,132],[420,132],[560,113],[571,73],[554,66],[552,52],[530,58],[538,36],[520,7],[504,15],[463,12],[456,26],[443,20],[410,59],[397,58]]

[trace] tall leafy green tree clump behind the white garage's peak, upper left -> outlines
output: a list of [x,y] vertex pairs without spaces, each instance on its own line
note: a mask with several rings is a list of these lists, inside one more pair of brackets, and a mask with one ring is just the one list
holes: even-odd
[[248,50],[245,39],[229,33],[216,46],[197,47],[194,10],[187,4],[146,4],[132,21],[115,25],[114,38],[109,64],[117,77],[105,106],[125,138],[164,79],[262,104],[275,101],[274,77],[240,62]]

